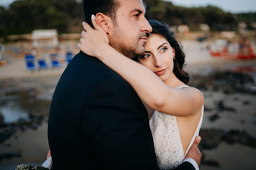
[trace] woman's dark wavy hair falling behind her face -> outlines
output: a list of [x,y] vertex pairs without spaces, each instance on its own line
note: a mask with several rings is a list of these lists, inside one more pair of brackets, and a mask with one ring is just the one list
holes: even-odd
[[152,33],[149,34],[158,34],[161,37],[164,37],[175,49],[175,60],[173,60],[173,73],[180,81],[185,84],[189,81],[189,75],[184,71],[185,66],[185,54],[183,52],[183,46],[174,38],[173,31],[170,31],[167,25],[164,25],[158,21],[149,21],[149,24],[152,26]]

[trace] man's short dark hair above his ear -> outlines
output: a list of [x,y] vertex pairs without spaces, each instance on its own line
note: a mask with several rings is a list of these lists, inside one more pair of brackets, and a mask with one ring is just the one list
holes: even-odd
[[91,22],[91,15],[103,13],[110,16],[113,22],[115,22],[115,12],[119,6],[120,2],[118,0],[83,0],[84,21],[91,27],[94,27]]

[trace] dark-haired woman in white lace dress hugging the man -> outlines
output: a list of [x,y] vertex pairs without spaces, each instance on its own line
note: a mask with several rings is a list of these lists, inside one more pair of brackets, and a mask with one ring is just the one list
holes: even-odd
[[82,32],[79,48],[133,86],[148,110],[158,166],[160,169],[179,166],[199,135],[204,104],[200,90],[186,85],[189,76],[183,70],[182,46],[167,26],[149,21],[153,31],[146,39],[145,53],[135,58],[135,62],[108,44],[107,34],[94,17],[92,23],[96,30],[83,23],[86,32]]

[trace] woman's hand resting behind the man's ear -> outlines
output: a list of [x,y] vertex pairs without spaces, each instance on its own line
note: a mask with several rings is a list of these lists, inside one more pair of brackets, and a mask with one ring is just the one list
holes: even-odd
[[82,52],[94,57],[103,57],[104,51],[110,47],[106,32],[96,23],[95,16],[91,17],[92,24],[95,29],[92,29],[88,23],[83,22],[84,30],[81,35],[80,44],[78,45]]

